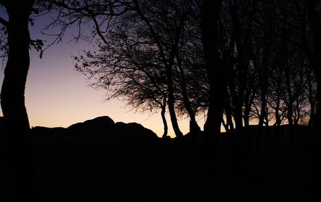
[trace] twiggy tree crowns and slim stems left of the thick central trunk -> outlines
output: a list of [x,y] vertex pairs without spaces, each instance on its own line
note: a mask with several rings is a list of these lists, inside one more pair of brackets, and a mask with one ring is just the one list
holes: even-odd
[[[95,3],[99,5],[99,2],[90,3],[87,2],[87,6],[85,1],[57,3],[62,5],[59,13],[72,12],[68,15],[70,18],[57,20],[63,28],[70,24],[68,20],[81,24],[79,19],[85,18],[96,28],[92,37],[99,35],[97,52],[89,51],[84,56],[74,57],[77,70],[96,79],[92,86],[105,88],[107,98],[125,97],[128,105],[143,111],[165,108],[167,104],[178,137],[182,133],[178,128],[176,110],[188,114],[194,125],[192,128],[199,131],[195,115],[204,109],[204,105],[200,105],[197,99],[200,96],[193,89],[203,88],[203,85],[199,85],[197,79],[194,81],[196,86],[189,81],[195,80],[191,74],[203,74],[203,65],[197,63],[201,59],[193,61],[187,57],[190,53],[199,54],[193,52],[197,47],[190,48],[200,44],[197,41],[200,39],[199,25],[195,24],[198,19],[192,18],[196,16],[193,2],[111,1],[104,8],[105,12],[94,10]],[[116,8],[112,6],[114,3]],[[108,24],[106,19],[109,19]],[[100,22],[96,23],[97,20]],[[104,28],[108,31],[102,32]],[[191,98],[189,92],[193,91],[191,96],[194,97]],[[181,108],[178,103],[185,107]]]

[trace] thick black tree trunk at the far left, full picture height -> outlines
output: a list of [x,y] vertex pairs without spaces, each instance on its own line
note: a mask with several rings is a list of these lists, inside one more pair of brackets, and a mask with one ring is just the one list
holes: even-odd
[[32,169],[30,125],[25,109],[25,82],[30,65],[29,18],[34,1],[0,1],[8,13],[8,61],[1,88],[6,124],[6,175],[12,201],[37,201]]

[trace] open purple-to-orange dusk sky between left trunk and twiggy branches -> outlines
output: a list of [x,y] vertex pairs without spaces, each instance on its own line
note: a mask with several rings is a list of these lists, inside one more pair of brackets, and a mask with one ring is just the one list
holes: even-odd
[[[3,12],[0,10],[0,12]],[[3,13],[0,14],[3,17]],[[32,39],[53,40],[52,37],[41,34],[40,30],[50,21],[50,17],[35,19],[35,25],[30,27]],[[25,105],[28,110],[30,126],[68,127],[77,122],[93,119],[99,116],[109,116],[115,122],[141,123],[145,128],[163,134],[163,123],[160,112],[156,114],[135,112],[125,108],[125,103],[114,99],[104,102],[105,92],[88,87],[85,77],[74,69],[71,55],[78,55],[81,50],[89,50],[90,44],[85,41],[72,41],[73,31],[65,34],[63,43],[56,44],[45,51],[43,59],[37,52],[30,52],[30,70],[25,89]],[[50,32],[54,32],[51,30]],[[3,81],[3,69],[0,72],[0,82]],[[0,84],[0,85],[1,85]],[[2,111],[0,109],[0,116]],[[178,118],[180,130],[185,134],[189,130],[189,119]],[[204,117],[197,117],[203,128]],[[172,125],[167,113],[169,134],[174,137]]]

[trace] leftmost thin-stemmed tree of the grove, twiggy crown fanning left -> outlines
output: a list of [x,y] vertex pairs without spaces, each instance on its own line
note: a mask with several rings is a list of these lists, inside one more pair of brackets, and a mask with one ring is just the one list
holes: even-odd
[[120,97],[127,105],[143,111],[161,108],[165,135],[167,89],[164,70],[154,63],[157,61],[154,51],[147,46],[147,51],[143,50],[143,41],[131,41],[125,37],[125,32],[117,29],[111,32],[111,37],[105,37],[108,43],[99,45],[98,52],[88,51],[84,56],[74,57],[76,70],[91,79],[92,87],[105,89],[107,99]]

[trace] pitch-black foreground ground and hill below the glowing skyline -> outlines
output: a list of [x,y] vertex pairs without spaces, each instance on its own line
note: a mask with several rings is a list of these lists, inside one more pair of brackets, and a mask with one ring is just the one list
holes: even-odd
[[[318,143],[307,127],[251,127],[215,144],[97,120],[32,129],[41,201],[315,201],[320,191]],[[0,140],[0,201],[8,201]]]

